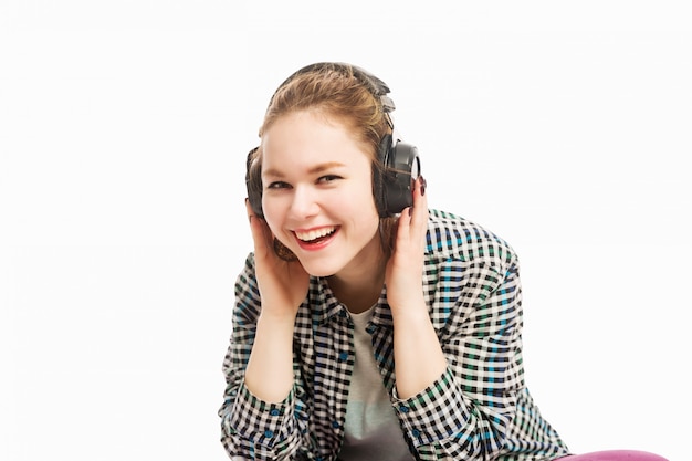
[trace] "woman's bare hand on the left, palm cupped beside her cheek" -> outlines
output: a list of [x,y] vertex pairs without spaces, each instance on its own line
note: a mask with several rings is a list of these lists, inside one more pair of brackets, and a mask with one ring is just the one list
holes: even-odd
[[274,235],[245,199],[254,241],[255,275],[262,296],[262,314],[295,317],[307,294],[310,275],[300,261],[287,262],[274,252]]

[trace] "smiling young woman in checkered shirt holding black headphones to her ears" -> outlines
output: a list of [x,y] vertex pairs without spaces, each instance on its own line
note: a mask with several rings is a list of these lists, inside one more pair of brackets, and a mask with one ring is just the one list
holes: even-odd
[[[428,209],[388,91],[318,63],[270,102],[248,158],[254,251],[235,283],[222,443],[258,460],[567,457],[524,385],[517,258]],[[397,181],[410,203],[392,203]]]

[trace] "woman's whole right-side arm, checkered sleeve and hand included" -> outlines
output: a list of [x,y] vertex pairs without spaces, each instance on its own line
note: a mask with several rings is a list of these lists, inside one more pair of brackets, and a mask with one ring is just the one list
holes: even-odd
[[478,229],[452,235],[461,232],[453,227],[440,230],[450,235],[436,239],[448,241],[423,263],[428,208],[420,188],[413,202],[399,219],[386,277],[395,411],[421,459],[491,460],[523,388],[518,265],[504,242]]

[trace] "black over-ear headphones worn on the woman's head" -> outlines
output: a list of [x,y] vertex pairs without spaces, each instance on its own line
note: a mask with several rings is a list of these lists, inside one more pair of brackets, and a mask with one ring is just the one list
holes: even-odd
[[[355,65],[333,62],[310,64],[291,74],[291,76],[279,86],[276,92],[295,76],[314,70],[336,70],[346,75],[353,73],[353,75],[368,88],[373,96],[380,102],[382,112],[394,132],[394,124],[389,113],[395,109],[395,105],[394,101],[387,96],[389,86],[366,70]],[[274,95],[276,92],[274,92]],[[273,98],[274,96],[270,99],[270,106]],[[248,153],[245,186],[252,211],[259,217],[264,217],[262,212],[262,171],[254,156],[258,148],[259,147],[254,147]],[[418,148],[401,142],[398,137],[387,134],[379,143],[377,161],[381,164],[381,168],[377,166],[373,168],[373,193],[375,196],[377,211],[380,218],[394,217],[400,213],[405,208],[413,205],[413,182],[420,175]]]

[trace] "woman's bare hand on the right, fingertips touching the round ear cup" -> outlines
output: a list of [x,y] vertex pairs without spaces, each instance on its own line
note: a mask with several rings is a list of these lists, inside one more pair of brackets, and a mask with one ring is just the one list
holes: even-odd
[[428,231],[426,180],[419,177],[413,188],[413,206],[401,211],[395,249],[387,262],[385,283],[392,315],[401,311],[426,310],[422,293],[423,258]]

